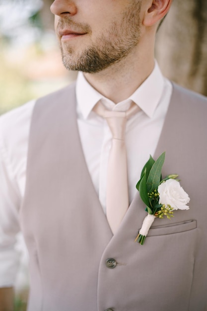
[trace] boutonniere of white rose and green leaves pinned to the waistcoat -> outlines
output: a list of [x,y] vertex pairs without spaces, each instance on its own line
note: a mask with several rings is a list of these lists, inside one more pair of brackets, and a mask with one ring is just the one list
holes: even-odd
[[144,218],[136,240],[143,245],[146,235],[157,218],[174,217],[174,210],[188,210],[190,198],[177,179],[178,175],[168,175],[162,179],[161,170],[165,152],[155,161],[151,156],[141,171],[136,188],[146,205],[147,216]]

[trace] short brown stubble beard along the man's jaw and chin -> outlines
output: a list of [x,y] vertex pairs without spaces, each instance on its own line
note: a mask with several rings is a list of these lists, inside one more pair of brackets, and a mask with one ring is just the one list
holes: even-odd
[[[71,47],[63,50],[62,60],[67,70],[98,73],[126,58],[138,45],[140,38],[140,1],[130,4],[120,24],[113,21],[108,31],[96,38],[95,43],[79,53]],[[88,26],[89,27],[89,26]]]

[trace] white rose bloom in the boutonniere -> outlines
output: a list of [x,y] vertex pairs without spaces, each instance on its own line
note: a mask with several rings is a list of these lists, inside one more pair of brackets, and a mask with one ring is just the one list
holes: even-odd
[[180,183],[175,179],[167,179],[161,183],[158,187],[159,204],[168,204],[174,210],[189,210],[190,198],[188,194],[183,190]]

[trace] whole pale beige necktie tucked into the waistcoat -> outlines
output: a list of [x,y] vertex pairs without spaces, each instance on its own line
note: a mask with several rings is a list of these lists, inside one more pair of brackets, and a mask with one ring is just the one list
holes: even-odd
[[133,104],[126,112],[110,111],[101,102],[93,108],[94,112],[107,120],[113,137],[106,187],[106,216],[113,233],[117,231],[129,207],[125,130],[127,119],[138,110],[139,107]]

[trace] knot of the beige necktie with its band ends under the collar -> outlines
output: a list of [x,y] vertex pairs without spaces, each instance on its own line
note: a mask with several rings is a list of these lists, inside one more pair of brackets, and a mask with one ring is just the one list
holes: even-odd
[[112,111],[106,109],[100,101],[93,108],[95,113],[106,119],[113,139],[118,140],[125,139],[127,119],[138,112],[138,110],[139,107],[133,104],[127,111]]

